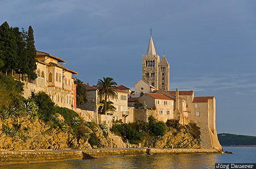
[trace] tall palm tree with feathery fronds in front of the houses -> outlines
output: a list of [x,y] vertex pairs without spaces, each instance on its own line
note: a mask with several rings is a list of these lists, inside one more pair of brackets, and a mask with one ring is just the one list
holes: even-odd
[[[104,105],[107,105],[107,99],[109,99],[109,96],[116,96],[116,92],[114,91],[115,88],[117,88],[117,83],[115,83],[113,78],[104,78],[98,79],[97,88],[100,96],[105,96]],[[106,106],[104,107],[104,113],[106,113]]]

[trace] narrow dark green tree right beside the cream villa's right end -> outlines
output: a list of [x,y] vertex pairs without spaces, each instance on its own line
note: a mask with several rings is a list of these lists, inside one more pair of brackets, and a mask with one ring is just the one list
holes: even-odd
[[75,81],[75,84],[77,84],[76,86],[76,104],[77,105],[82,105],[87,102],[87,95],[86,95],[87,90],[84,84],[82,83],[84,82],[80,81],[79,79],[76,79]]

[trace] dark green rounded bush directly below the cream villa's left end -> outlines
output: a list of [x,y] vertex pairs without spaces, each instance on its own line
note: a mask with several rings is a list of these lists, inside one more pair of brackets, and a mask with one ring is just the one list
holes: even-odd
[[50,117],[56,113],[55,103],[46,94],[46,92],[39,91],[37,94],[32,94],[32,100],[38,105],[39,118],[44,121],[49,121]]

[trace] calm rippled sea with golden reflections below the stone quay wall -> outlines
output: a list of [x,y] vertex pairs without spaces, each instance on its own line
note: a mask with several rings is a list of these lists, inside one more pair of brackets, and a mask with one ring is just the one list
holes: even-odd
[[141,155],[13,164],[1,168],[214,168],[214,163],[256,163],[256,147],[223,147],[233,154]]

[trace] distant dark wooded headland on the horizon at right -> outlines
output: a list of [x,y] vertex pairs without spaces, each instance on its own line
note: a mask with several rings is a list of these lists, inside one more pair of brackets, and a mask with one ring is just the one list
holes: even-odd
[[255,136],[244,136],[237,134],[221,133],[218,134],[218,141],[222,146],[252,146],[256,145]]

